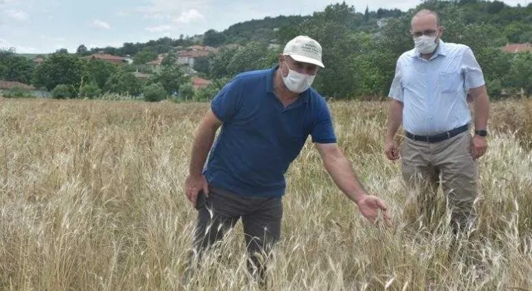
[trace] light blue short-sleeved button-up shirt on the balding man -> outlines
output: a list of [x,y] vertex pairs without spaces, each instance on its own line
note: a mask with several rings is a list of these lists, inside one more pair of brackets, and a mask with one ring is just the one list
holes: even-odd
[[431,135],[470,123],[467,92],[482,85],[484,75],[471,48],[440,40],[430,60],[416,48],[399,57],[389,97],[404,104],[405,130]]

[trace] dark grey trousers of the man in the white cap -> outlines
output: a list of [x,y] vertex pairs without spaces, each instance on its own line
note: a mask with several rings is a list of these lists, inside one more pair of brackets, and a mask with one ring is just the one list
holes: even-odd
[[[202,198],[205,198],[204,201]],[[197,206],[193,246],[199,258],[242,218],[249,254],[248,270],[264,279],[265,262],[259,258],[267,257],[281,236],[281,200],[281,197],[241,196],[209,187],[209,197],[198,197],[198,205],[202,206]]]

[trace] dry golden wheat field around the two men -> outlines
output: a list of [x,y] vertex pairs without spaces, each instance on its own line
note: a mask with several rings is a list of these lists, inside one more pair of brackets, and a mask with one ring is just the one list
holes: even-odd
[[[258,290],[240,222],[185,280],[196,212],[182,189],[208,107],[0,100],[0,290]],[[459,240],[443,193],[431,222],[405,223],[400,164],[383,152],[387,103],[330,108],[394,225],[365,221],[308,141],[287,173],[269,290],[532,290],[532,100],[493,103],[479,221]]]

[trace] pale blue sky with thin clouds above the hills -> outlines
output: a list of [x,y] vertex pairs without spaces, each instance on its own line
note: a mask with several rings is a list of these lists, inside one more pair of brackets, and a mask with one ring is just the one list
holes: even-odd
[[[504,0],[511,6],[532,0]],[[341,0],[0,0],[0,48],[17,53],[76,51],[222,31],[238,22],[311,15]],[[421,0],[351,0],[355,10],[415,8]]]

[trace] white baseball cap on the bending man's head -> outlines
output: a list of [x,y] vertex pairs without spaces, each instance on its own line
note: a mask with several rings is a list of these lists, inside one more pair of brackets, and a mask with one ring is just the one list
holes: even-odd
[[321,45],[306,35],[299,35],[290,40],[283,55],[290,55],[296,62],[308,62],[325,68],[321,62]]

